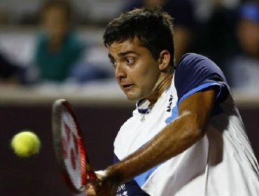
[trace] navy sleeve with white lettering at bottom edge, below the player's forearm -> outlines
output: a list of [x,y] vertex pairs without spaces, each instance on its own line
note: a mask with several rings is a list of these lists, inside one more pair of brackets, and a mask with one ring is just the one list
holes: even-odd
[[[116,163],[120,161],[116,155],[114,155],[113,163]],[[145,193],[137,184],[136,181],[131,180],[127,181],[126,183],[121,184],[116,192],[116,195],[122,195],[122,196],[149,196],[147,193]]]

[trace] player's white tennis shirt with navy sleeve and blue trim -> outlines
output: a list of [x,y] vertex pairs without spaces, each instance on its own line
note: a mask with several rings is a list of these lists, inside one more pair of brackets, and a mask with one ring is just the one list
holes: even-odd
[[[183,153],[134,178],[148,195],[259,195],[258,162],[228,84],[218,66],[202,55],[183,56],[172,85],[153,108],[145,108],[146,101],[137,103],[132,117],[118,132],[114,153],[123,160],[137,151],[177,118],[183,99],[211,86],[216,87],[217,97],[205,136]],[[118,193],[123,194],[130,196],[125,185],[123,193]]]

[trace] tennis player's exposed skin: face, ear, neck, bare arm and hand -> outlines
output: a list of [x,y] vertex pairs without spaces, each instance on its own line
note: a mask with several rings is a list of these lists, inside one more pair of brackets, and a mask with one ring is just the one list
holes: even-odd
[[[113,43],[109,57],[120,88],[130,100],[148,99],[155,104],[172,82],[167,50],[155,60],[139,40]],[[184,79],[184,78],[183,78]],[[179,117],[169,123],[143,148],[108,167],[99,182],[87,186],[87,195],[115,195],[116,187],[169,158],[182,153],[204,136],[214,106],[213,89],[197,92],[181,102]]]

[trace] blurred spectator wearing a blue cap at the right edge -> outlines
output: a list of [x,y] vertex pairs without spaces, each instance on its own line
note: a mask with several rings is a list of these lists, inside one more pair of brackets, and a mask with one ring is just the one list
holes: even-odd
[[259,92],[259,3],[244,3],[237,24],[239,52],[225,64],[230,85]]

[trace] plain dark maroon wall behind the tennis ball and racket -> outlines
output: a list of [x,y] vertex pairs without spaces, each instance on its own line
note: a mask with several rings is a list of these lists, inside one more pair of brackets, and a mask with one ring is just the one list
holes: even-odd
[[[85,145],[95,169],[104,169],[113,159],[113,139],[120,125],[131,116],[134,106],[75,106],[85,137]],[[257,158],[259,158],[259,109],[241,107]],[[0,195],[72,195],[59,174],[52,147],[51,104],[0,106]],[[29,129],[41,139],[38,155],[18,158],[10,149],[10,139]]]

